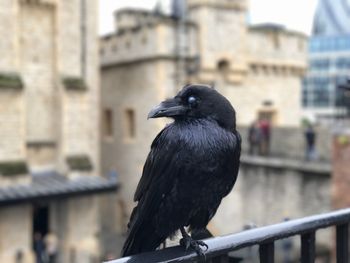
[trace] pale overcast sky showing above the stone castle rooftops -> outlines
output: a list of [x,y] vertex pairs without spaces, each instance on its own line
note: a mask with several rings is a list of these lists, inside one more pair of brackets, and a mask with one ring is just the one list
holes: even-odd
[[[158,0],[159,1],[159,0]],[[168,2],[170,0],[161,0]],[[122,7],[151,9],[157,0],[99,0],[100,34],[113,31],[113,11]],[[317,0],[249,0],[251,23],[273,22],[289,29],[310,33]]]

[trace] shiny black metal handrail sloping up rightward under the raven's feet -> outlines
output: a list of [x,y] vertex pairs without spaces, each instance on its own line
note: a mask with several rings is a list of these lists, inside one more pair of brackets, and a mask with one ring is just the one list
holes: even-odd
[[[345,237],[344,225],[350,222],[350,208],[334,211],[327,214],[315,215],[296,220],[286,221],[280,224],[275,224],[266,227],[246,230],[237,234],[214,237],[204,240],[208,245],[208,250],[205,252],[207,258],[213,258],[220,255],[225,255],[230,251],[238,250],[244,247],[250,247],[256,244],[267,244],[275,240],[287,238],[295,235],[304,235],[311,233],[320,228],[339,225],[339,235],[337,235],[337,252],[341,259],[345,261],[338,261],[348,263],[348,255],[344,251],[347,250],[347,245],[343,242],[348,242]],[[343,226],[341,228],[340,226]],[[347,229],[347,228],[346,228]],[[346,232],[347,233],[347,232]],[[338,242],[339,239],[339,242]],[[347,243],[348,244],[348,243]],[[340,248],[340,246],[343,246]],[[132,262],[194,262],[198,260],[198,256],[194,251],[184,251],[182,247],[171,247],[162,249],[160,251],[153,251],[135,255],[132,257],[122,258],[109,263],[132,263]]]

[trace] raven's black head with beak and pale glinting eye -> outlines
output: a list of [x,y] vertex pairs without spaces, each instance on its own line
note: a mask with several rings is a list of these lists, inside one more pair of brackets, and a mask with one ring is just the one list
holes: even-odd
[[221,127],[236,128],[235,110],[231,103],[215,89],[206,85],[187,85],[174,98],[154,107],[148,118],[171,117],[175,121],[211,119]]

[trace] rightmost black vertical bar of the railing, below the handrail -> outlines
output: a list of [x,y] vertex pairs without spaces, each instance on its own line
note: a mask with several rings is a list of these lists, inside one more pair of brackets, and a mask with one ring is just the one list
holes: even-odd
[[349,223],[337,225],[337,263],[349,262]]

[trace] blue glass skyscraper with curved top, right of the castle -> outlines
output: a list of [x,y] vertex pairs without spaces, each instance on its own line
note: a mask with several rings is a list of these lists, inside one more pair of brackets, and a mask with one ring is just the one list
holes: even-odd
[[308,63],[304,113],[318,120],[334,118],[341,96],[337,85],[350,78],[350,0],[319,0]]

